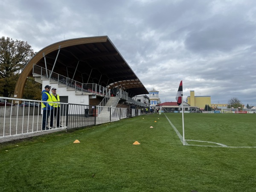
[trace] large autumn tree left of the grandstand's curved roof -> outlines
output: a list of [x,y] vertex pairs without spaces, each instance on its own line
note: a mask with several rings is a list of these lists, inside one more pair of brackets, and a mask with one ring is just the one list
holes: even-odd
[[0,38],[0,96],[12,96],[21,70],[33,55],[27,42]]

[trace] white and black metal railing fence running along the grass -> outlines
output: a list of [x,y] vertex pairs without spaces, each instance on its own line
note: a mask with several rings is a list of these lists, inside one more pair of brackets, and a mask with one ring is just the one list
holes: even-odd
[[[44,130],[41,101],[0,97],[0,140],[4,137],[13,137],[24,134],[38,133]],[[20,103],[20,104],[19,104]],[[138,116],[140,110],[127,108],[111,108],[91,105],[77,105],[59,103],[60,125],[53,121],[55,129],[73,129],[90,125]],[[50,128],[50,119],[53,111],[49,112],[47,127]]]

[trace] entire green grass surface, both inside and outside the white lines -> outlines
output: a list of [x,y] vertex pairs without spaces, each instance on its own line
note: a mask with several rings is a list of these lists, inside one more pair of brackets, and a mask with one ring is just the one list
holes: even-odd
[[[182,135],[181,114],[165,114]],[[138,116],[0,144],[0,191],[256,190],[256,148],[183,146],[166,116]],[[185,113],[185,139],[253,147],[255,117]],[[73,143],[76,139],[81,143]]]

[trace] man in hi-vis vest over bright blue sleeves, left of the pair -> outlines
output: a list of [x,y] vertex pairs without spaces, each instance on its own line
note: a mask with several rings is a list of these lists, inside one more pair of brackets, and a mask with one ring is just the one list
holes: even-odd
[[49,85],[46,85],[44,87],[44,90],[42,91],[42,108],[43,108],[42,130],[49,129],[49,127],[47,127],[48,117],[49,117],[50,111],[52,110],[52,103],[51,103],[52,97],[49,92],[50,90],[51,90],[51,87]]

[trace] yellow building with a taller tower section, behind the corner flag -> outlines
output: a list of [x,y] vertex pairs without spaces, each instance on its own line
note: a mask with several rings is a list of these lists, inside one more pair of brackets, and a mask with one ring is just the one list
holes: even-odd
[[195,96],[195,91],[190,91],[190,96],[187,96],[186,103],[200,109],[204,109],[205,105],[211,106],[211,96]]

